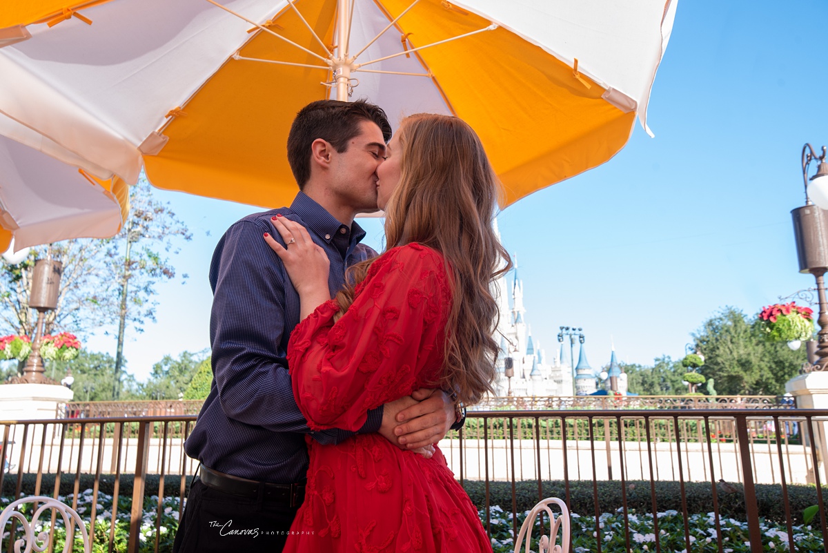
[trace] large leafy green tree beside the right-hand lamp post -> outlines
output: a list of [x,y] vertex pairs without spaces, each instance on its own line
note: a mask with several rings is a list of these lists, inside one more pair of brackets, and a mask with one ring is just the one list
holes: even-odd
[[716,391],[735,395],[782,395],[806,360],[805,348],[792,351],[784,343],[764,339],[756,317],[725,307],[693,334],[705,356],[699,369],[715,378]]

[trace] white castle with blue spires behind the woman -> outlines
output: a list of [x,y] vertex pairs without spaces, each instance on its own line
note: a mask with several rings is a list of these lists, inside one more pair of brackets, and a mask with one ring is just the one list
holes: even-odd
[[[494,229],[498,232],[497,220]],[[504,275],[498,279],[493,291],[500,311],[494,336],[500,343],[494,391],[498,396],[572,396],[573,360],[566,354],[565,347],[556,347],[551,358],[547,357],[546,350],[532,337],[523,305],[523,281],[517,274],[517,260],[512,273],[511,289]],[[614,349],[607,372],[598,374],[586,359],[584,344],[580,344],[574,373],[575,395],[604,395],[613,384],[618,392],[628,394],[627,375],[623,374]]]

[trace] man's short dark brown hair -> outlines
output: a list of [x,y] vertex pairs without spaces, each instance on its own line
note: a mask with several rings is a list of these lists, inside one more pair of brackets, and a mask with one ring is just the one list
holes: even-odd
[[287,135],[287,161],[299,190],[305,188],[310,179],[310,145],[313,141],[321,138],[336,151],[343,152],[348,149],[348,142],[359,134],[362,121],[377,123],[385,142],[391,140],[391,125],[383,108],[365,100],[317,100],[296,113]]

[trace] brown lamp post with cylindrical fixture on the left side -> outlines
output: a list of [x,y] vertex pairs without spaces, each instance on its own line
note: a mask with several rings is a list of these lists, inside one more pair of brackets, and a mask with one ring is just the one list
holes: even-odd
[[[57,297],[60,292],[60,275],[63,272],[63,263],[51,259],[39,259],[35,263],[35,270],[31,277],[31,293],[29,307],[37,310],[37,329],[35,339],[31,344],[31,353],[26,360],[26,368],[21,377],[13,377],[12,384],[59,384],[46,377],[41,359],[41,341],[43,338],[43,315],[48,310],[57,307]],[[73,378],[74,381],[74,378]]]

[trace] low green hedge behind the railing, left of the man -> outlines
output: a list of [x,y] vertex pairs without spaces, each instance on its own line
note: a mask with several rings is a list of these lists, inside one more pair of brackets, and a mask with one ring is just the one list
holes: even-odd
[[[37,474],[23,474],[21,490],[23,495],[34,495]],[[134,476],[132,474],[121,475],[121,485],[118,489],[118,496],[132,498],[132,481]],[[144,484],[144,493],[146,495],[158,494],[158,483],[161,481],[161,476],[158,474],[147,474],[147,481]],[[192,477],[186,477],[185,494],[190,493],[190,482]],[[78,487],[79,492],[84,489],[94,489],[95,477],[94,474],[81,474],[80,483]],[[114,474],[101,474],[99,482],[99,490],[108,495],[112,495],[115,486]],[[9,498],[14,495],[14,490],[17,488],[17,474],[6,474],[2,482],[2,496]],[[55,474],[43,474],[41,478],[41,495],[52,496],[55,492]],[[60,475],[60,495],[69,495],[75,492],[75,474],[61,474]],[[177,498],[181,493],[181,476],[178,474],[164,477],[164,495]]]

